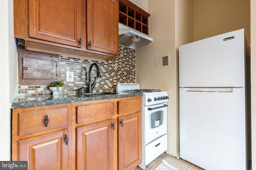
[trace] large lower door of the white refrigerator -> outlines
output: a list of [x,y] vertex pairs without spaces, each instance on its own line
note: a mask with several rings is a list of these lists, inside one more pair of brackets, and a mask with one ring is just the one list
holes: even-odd
[[180,157],[207,170],[245,170],[244,88],[180,88]]

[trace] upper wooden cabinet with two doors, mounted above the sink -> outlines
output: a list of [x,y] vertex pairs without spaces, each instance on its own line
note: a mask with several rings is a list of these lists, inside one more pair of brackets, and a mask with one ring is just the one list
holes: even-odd
[[118,57],[118,0],[14,0],[25,49],[108,61]]

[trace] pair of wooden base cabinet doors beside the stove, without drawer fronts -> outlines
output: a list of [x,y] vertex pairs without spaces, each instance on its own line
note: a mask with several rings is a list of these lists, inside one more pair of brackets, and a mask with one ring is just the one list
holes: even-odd
[[141,112],[77,128],[77,169],[116,169],[116,143],[119,170],[130,170],[141,163]]

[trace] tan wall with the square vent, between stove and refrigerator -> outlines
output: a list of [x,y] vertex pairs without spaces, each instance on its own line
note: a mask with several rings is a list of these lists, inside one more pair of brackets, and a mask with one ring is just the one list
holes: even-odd
[[[175,51],[175,0],[148,0],[149,36],[146,47],[136,50],[136,82],[143,89],[167,91],[168,153],[176,156],[177,143],[177,58]],[[155,57],[170,53],[170,67],[155,69]]]

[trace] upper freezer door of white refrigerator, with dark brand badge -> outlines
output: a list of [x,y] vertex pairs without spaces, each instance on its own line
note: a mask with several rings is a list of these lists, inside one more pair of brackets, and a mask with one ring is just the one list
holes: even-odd
[[179,87],[244,87],[244,29],[179,48]]

